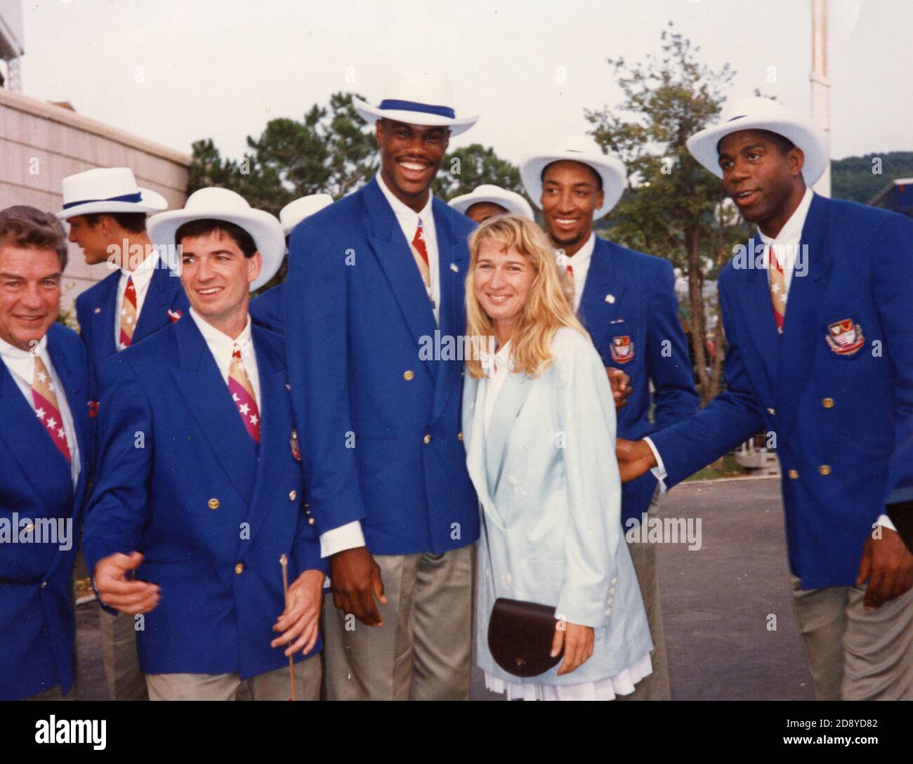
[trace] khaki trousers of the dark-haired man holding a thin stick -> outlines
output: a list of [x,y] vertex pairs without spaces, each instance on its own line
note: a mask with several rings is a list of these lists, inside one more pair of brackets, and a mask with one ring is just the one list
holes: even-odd
[[[289,700],[289,666],[242,679],[236,674],[147,674],[150,700]],[[295,664],[297,700],[320,700],[320,655]]]

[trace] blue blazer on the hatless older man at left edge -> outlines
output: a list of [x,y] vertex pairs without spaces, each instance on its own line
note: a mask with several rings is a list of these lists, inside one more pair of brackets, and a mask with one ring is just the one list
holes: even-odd
[[[0,699],[16,700],[73,686],[76,621],[71,573],[94,460],[89,420],[89,364],[75,331],[54,324],[47,352],[73,415],[79,480],[48,437],[4,363],[0,362],[0,518],[20,525],[43,518],[72,522],[70,549],[55,543],[0,543]],[[14,528],[14,532],[18,529]]]

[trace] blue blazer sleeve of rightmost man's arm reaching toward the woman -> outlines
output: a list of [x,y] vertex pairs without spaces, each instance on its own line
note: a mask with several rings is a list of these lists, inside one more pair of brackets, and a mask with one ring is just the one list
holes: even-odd
[[740,336],[731,322],[726,289],[720,284],[719,300],[726,331],[726,391],[707,408],[650,435],[666,467],[666,486],[673,487],[714,459],[728,454],[764,426],[761,407],[752,392],[741,357]]

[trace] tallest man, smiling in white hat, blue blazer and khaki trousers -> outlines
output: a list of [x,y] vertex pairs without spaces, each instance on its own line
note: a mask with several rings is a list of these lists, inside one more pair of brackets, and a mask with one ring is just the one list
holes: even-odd
[[355,101],[380,172],[291,235],[289,379],[336,605],[328,697],[460,699],[478,505],[463,361],[442,348],[465,330],[473,224],[429,189],[450,137],[476,118],[456,118],[444,78],[402,72],[387,92],[377,108]]

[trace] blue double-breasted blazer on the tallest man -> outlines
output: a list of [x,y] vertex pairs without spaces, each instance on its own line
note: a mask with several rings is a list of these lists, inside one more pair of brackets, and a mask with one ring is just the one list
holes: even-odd
[[[467,236],[433,203],[440,327],[394,211],[373,180],[300,223],[285,305],[292,404],[320,532],[361,520],[375,554],[441,553],[478,538],[460,432]],[[425,352],[427,351],[427,352]],[[436,355],[440,358],[436,359]]]

